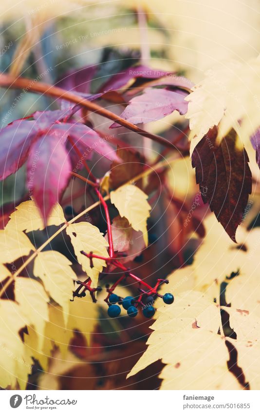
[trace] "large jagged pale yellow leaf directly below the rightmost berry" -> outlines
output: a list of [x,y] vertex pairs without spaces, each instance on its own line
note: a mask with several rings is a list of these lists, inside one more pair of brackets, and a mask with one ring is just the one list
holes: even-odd
[[[171,291],[171,283],[168,290]],[[224,340],[217,335],[220,312],[199,292],[187,291],[158,309],[148,349],[131,370],[135,375],[162,358],[160,389],[240,389],[228,372]]]

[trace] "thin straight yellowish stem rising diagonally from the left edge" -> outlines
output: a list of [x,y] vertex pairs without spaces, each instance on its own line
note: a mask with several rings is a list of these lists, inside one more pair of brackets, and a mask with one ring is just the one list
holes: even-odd
[[[173,158],[175,159],[175,158]],[[172,160],[173,160],[172,159]],[[149,176],[149,174],[152,174],[156,169],[160,169],[164,166],[169,166],[169,163],[171,162],[171,159],[169,158],[168,160],[165,161],[160,161],[157,164],[153,165],[152,167],[150,167],[149,169],[143,171],[142,173],[138,174],[137,176],[131,178],[130,180],[128,180],[125,184],[123,184],[121,187],[123,187],[124,185],[127,184],[131,184],[134,181],[139,180],[140,178],[143,177],[147,177]],[[82,177],[84,178],[84,177]],[[120,187],[119,187],[120,188]],[[110,195],[108,194],[107,196],[103,197],[104,201],[107,201],[110,199]],[[31,263],[31,261],[37,257],[37,254],[39,252],[41,252],[44,247],[46,247],[56,236],[59,235],[59,233],[61,233],[63,230],[66,229],[66,227],[72,223],[74,223],[74,221],[76,221],[78,218],[84,216],[86,213],[88,213],[89,211],[93,210],[95,207],[99,206],[101,204],[101,201],[98,200],[95,203],[93,203],[91,206],[87,207],[85,210],[83,210],[81,213],[79,213],[77,216],[73,217],[71,220],[67,221],[63,226],[61,226],[56,233],[54,233],[51,237],[48,238],[48,240],[46,240],[40,247],[38,247],[38,249],[30,256],[28,257],[28,259],[26,259],[23,264],[19,267],[19,269],[17,269],[17,271],[15,273],[13,273],[10,278],[6,281],[6,283],[3,285],[2,284],[2,288],[0,290],[0,297],[3,295],[3,293],[6,291],[6,289],[8,288],[8,286],[10,286],[10,284],[12,283],[12,281],[16,278],[16,276],[18,276],[20,274],[20,272],[26,268],[26,266],[28,266],[28,264]]]

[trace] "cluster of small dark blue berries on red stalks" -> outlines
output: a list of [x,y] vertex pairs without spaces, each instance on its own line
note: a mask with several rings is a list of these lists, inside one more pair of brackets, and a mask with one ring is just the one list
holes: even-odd
[[147,318],[153,317],[155,314],[155,309],[153,307],[154,300],[156,296],[160,296],[163,298],[164,303],[170,305],[174,301],[174,297],[171,293],[166,293],[164,296],[156,294],[154,296],[147,295],[146,293],[142,293],[138,299],[135,299],[132,296],[126,296],[124,298],[111,293],[108,298],[109,301],[109,308],[108,308],[108,315],[110,317],[117,317],[121,314],[121,308],[119,305],[122,305],[124,309],[126,309],[128,315],[130,317],[135,317],[138,314],[138,306],[142,306],[143,315]]

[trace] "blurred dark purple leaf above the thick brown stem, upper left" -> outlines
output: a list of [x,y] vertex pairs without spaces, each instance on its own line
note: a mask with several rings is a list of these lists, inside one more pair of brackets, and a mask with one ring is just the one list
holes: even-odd
[[67,91],[90,93],[91,81],[97,70],[97,66],[85,66],[80,69],[73,69],[65,73],[61,79],[56,82],[56,86]]

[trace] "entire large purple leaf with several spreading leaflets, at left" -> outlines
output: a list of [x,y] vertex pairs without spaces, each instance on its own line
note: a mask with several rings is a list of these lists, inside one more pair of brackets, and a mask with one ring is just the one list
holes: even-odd
[[[48,218],[70,179],[74,150],[67,147],[70,136],[74,144],[80,143],[83,154],[92,151],[118,160],[111,146],[87,125],[62,122],[73,109],[35,112],[35,120],[17,120],[0,131],[2,142],[0,179],[14,174],[28,158],[27,187],[33,193],[44,219]],[[72,156],[73,165],[75,163]]]

